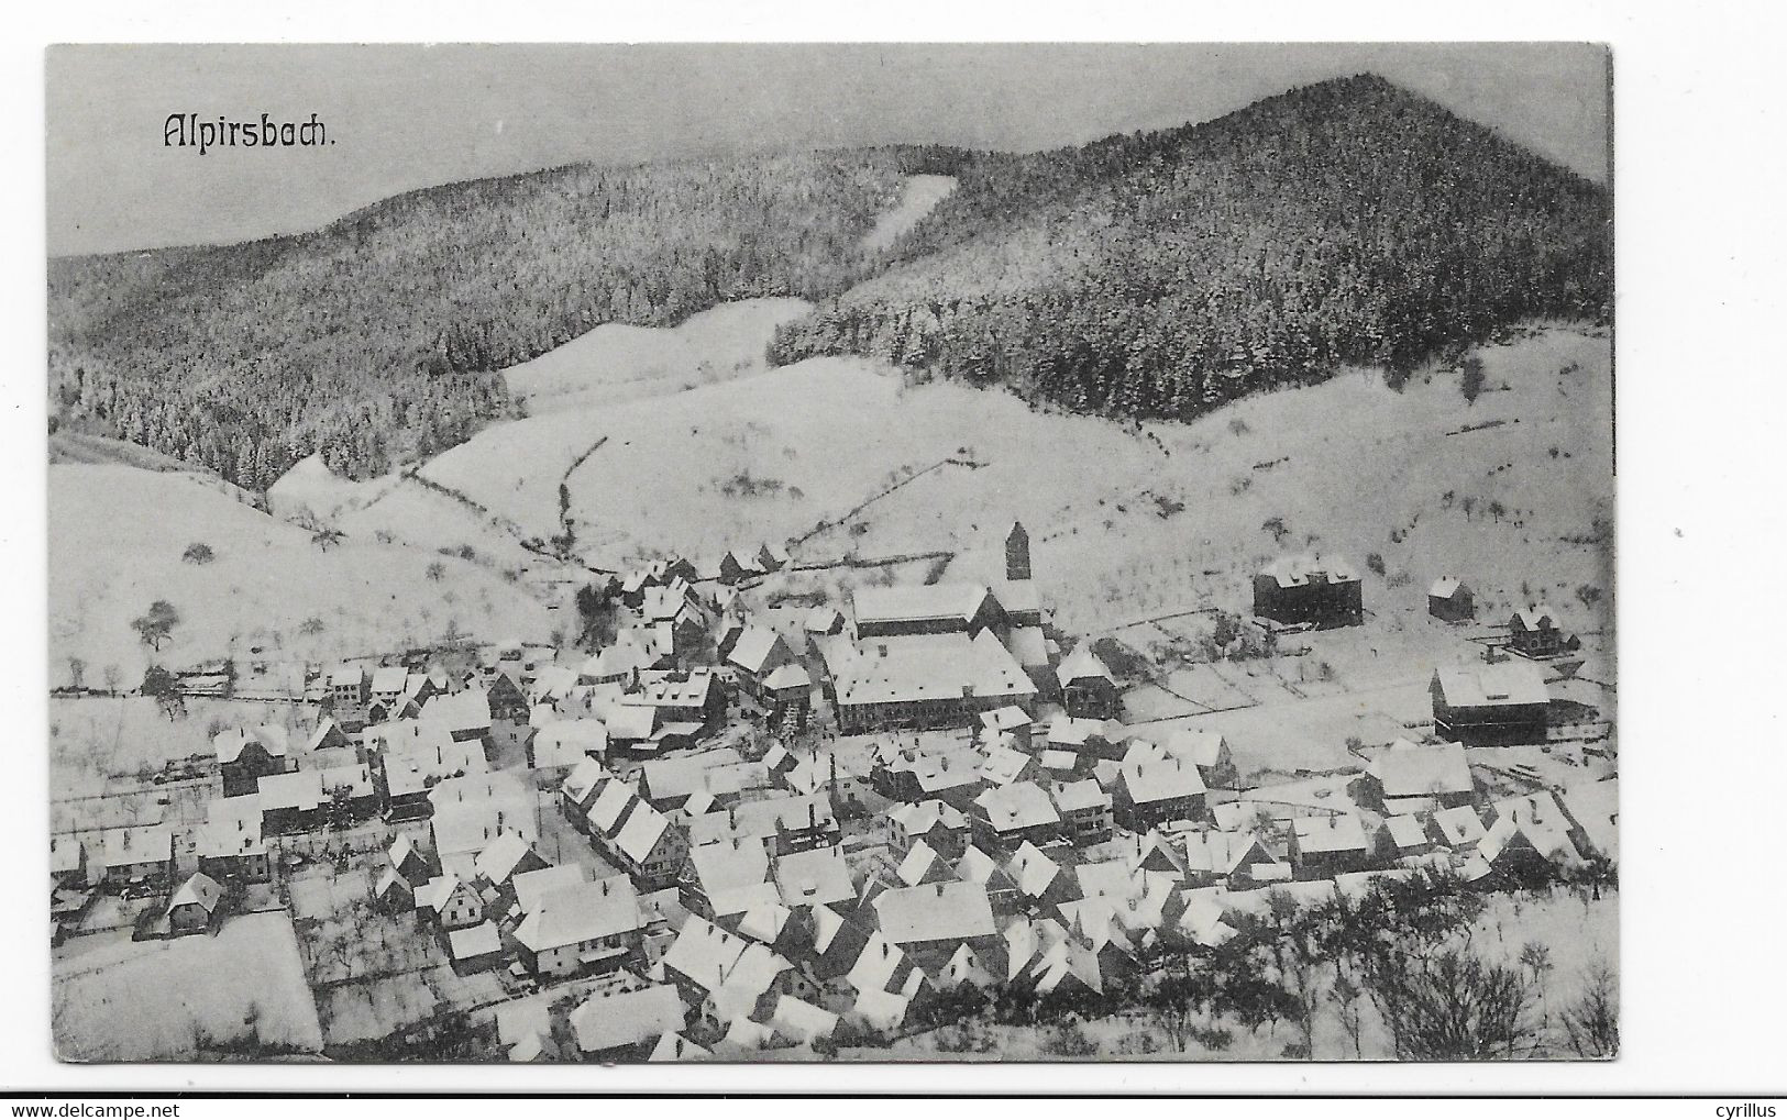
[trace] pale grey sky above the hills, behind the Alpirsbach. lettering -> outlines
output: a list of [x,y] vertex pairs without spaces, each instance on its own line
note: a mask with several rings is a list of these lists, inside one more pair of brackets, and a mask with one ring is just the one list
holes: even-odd
[[[54,46],[52,255],[316,229],[407,189],[577,161],[949,143],[1038,150],[1374,71],[1608,179],[1594,45]],[[168,146],[170,114],[327,145]]]

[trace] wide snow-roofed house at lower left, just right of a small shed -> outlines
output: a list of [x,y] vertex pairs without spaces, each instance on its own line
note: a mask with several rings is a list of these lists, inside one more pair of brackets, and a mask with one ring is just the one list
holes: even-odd
[[640,897],[625,875],[572,882],[547,891],[522,924],[515,945],[536,977],[613,972],[636,959],[645,931]]

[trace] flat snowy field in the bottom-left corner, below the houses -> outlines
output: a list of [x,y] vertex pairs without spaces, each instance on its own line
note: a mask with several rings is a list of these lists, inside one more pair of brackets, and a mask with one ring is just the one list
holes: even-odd
[[214,936],[118,941],[52,970],[64,1061],[189,1061],[222,1050],[316,1054],[322,1031],[291,920],[231,918]]

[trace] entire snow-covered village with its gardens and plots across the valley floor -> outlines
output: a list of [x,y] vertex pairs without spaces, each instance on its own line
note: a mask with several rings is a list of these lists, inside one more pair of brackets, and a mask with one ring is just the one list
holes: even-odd
[[[588,654],[463,641],[236,691],[282,718],[57,804],[61,1045],[1390,1056],[1374,950],[1324,943],[1390,932],[1380,907],[1492,929],[1512,968],[1612,966],[1594,634],[1297,554],[1246,611],[1092,639],[1053,625],[1022,525],[1003,559],[835,600],[779,545],[665,557],[577,589]],[[1374,684],[1385,616],[1422,684]],[[1162,672],[1144,632],[1208,657]],[[1253,741],[1355,709],[1376,734],[1331,765]]]

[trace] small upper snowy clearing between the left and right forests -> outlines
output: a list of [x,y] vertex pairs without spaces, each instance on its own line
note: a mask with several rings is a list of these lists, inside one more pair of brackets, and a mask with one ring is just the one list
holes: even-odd
[[813,305],[797,298],[720,304],[675,327],[600,327],[502,372],[531,416],[681,393],[763,368],[776,327]]

